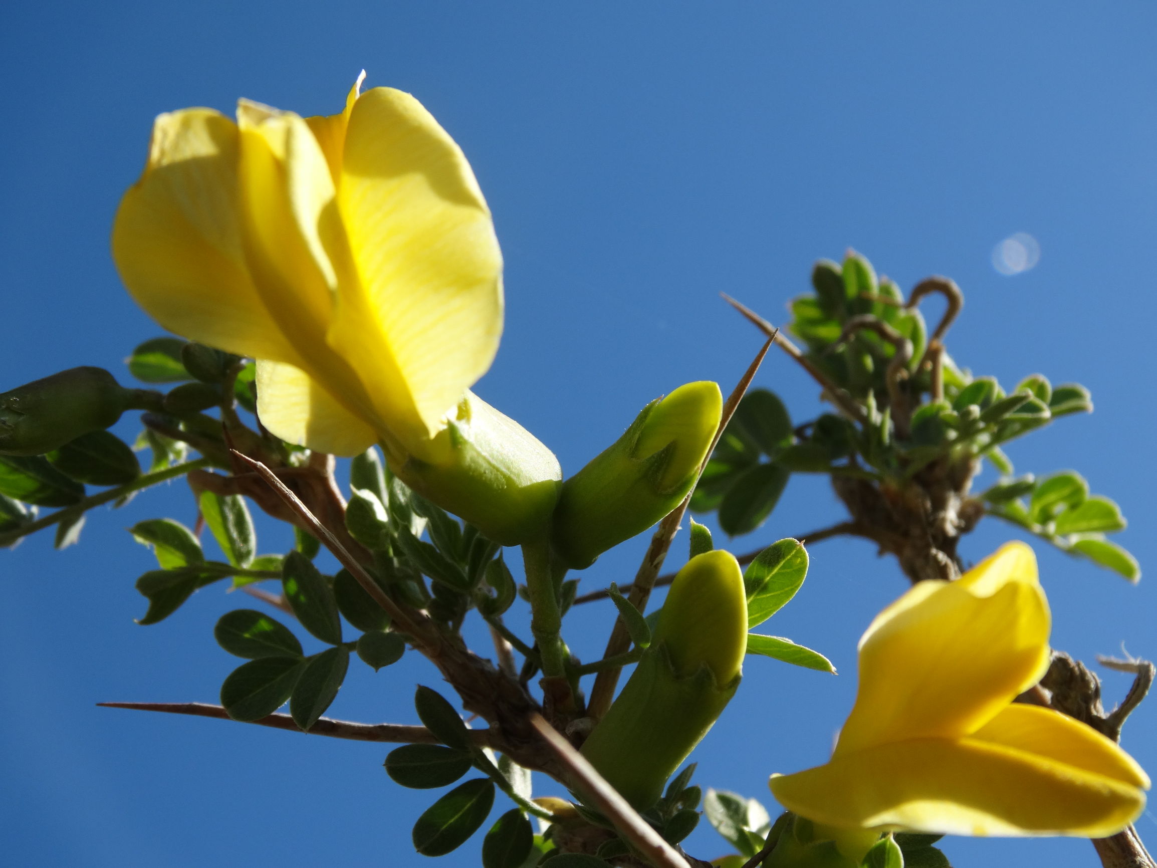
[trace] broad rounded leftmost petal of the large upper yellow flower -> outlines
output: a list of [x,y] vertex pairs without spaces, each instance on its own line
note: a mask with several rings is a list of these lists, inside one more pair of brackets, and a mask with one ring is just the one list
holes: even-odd
[[112,256],[137,303],[186,338],[293,361],[245,263],[238,134],[211,109],[157,117],[145,172],[125,193]]

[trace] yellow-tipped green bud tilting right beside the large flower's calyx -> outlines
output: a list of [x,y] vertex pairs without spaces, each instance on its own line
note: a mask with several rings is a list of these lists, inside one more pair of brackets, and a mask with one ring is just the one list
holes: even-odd
[[562,484],[552,543],[575,569],[647,530],[695,484],[723,411],[715,383],[680,385],[643,407],[610,449]]

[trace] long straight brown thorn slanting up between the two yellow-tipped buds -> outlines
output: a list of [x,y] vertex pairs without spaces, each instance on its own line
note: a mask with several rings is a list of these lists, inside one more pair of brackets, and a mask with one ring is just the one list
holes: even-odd
[[[683,499],[675,509],[663,521],[658,523],[658,529],[651,537],[650,545],[647,547],[647,553],[643,556],[643,562],[639,565],[639,572],[635,573],[635,580],[631,584],[631,604],[638,609],[640,612],[646,611],[647,599],[650,597],[651,588],[655,586],[655,580],[658,578],[658,571],[663,568],[663,560],[666,558],[666,552],[671,547],[671,543],[675,540],[675,535],[679,531],[679,522],[683,521],[684,514],[687,512],[687,505],[691,503],[691,495],[695,491],[695,485],[699,483],[699,477],[703,473],[703,468],[707,466],[707,462],[710,461],[712,453],[715,451],[715,446],[720,442],[720,437],[723,436],[723,432],[727,431],[728,422],[731,421],[731,417],[735,415],[736,409],[739,406],[739,402],[743,400],[744,393],[747,391],[747,387],[751,385],[751,381],[756,378],[756,373],[759,370],[759,366],[762,363],[764,358],[767,355],[767,351],[771,348],[772,344],[775,343],[775,336],[779,332],[778,329],[773,329],[772,333],[767,338],[767,343],[756,353],[756,358],[751,360],[751,365],[744,372],[743,376],[739,377],[739,382],[736,383],[735,389],[728,396],[727,403],[723,405],[723,412],[720,414],[720,424],[715,429],[715,436],[712,439],[712,443],[703,455],[703,459],[699,463],[699,470],[695,473],[695,481],[691,486],[691,491],[687,492],[687,496]],[[627,649],[631,648],[631,633],[627,631],[627,625],[621,617],[617,618],[614,621],[614,627],[611,630],[611,638],[606,642],[606,649],[603,652],[603,657],[617,657],[620,654],[625,654]],[[614,698],[614,687],[619,683],[619,672],[621,669],[619,667],[613,667],[611,669],[604,669],[597,676],[595,676],[595,685],[590,691],[590,701],[587,704],[587,715],[594,720],[600,719],[606,714],[606,709],[611,706],[611,699]]]

